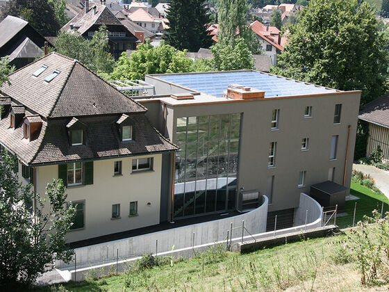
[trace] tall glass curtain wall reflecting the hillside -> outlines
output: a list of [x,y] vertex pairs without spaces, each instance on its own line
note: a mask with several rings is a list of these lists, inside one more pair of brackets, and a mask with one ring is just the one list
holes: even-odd
[[240,113],[179,117],[174,218],[235,209]]

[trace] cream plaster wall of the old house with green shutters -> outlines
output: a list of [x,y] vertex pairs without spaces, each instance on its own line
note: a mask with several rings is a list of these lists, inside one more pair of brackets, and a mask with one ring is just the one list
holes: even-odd
[[[132,159],[153,157],[153,170],[132,171]],[[114,161],[122,161],[122,175],[114,175]],[[94,161],[94,181],[69,186],[68,201],[85,200],[85,227],[70,231],[67,242],[156,225],[160,218],[162,155]],[[58,179],[58,165],[38,167],[37,188],[44,195],[47,183]],[[130,202],[138,202],[138,216],[129,216]],[[151,204],[147,204],[151,203]],[[120,204],[120,218],[112,218],[112,205]]]

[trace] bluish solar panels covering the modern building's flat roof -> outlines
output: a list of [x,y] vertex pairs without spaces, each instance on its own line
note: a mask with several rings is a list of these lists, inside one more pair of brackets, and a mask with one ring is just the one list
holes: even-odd
[[265,91],[265,97],[281,97],[294,95],[315,95],[336,92],[283,77],[260,72],[225,72],[205,74],[162,75],[160,79],[171,83],[206,92],[208,95],[223,97],[229,84],[240,84]]

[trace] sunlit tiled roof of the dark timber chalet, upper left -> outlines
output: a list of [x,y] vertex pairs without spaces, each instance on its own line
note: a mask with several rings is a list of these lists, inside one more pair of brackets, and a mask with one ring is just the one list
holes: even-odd
[[[96,14],[94,14],[94,6],[96,6]],[[117,19],[106,6],[90,3],[89,7],[88,13],[85,13],[85,9],[81,10],[80,13],[67,22],[61,30],[72,31],[70,27],[72,24],[74,25],[74,29],[77,29],[78,33],[82,35],[94,24],[121,25],[119,19]]]

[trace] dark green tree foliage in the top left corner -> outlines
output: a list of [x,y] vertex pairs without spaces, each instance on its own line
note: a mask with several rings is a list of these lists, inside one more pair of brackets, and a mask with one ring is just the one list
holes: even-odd
[[1,8],[0,19],[6,18],[7,15],[21,17],[26,19],[41,35],[56,35],[61,28],[61,24],[56,18],[60,13],[55,6],[59,1],[10,0]]

